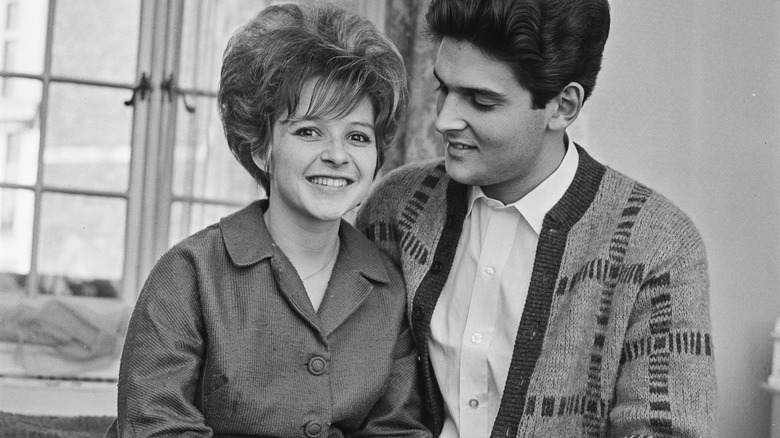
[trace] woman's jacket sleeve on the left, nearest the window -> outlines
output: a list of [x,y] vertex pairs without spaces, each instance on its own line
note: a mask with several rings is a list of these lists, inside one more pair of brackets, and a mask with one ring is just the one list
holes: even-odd
[[176,248],[152,270],[119,370],[119,436],[211,436],[195,405],[204,335],[197,276]]

